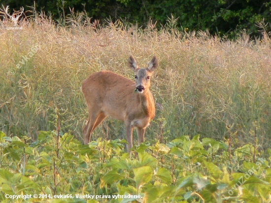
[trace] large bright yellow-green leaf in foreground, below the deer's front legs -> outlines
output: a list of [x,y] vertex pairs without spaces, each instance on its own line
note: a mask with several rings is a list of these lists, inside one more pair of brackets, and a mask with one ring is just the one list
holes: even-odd
[[151,180],[152,169],[149,166],[134,169],[136,188]]

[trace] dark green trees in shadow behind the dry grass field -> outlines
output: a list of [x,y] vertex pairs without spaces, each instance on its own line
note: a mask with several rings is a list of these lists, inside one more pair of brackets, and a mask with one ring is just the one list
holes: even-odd
[[[14,9],[34,6],[32,0],[4,0],[3,4]],[[232,37],[243,29],[257,34],[257,22],[271,21],[271,0],[37,0],[35,6],[37,11],[51,13],[55,19],[65,18],[74,8],[78,12],[85,10],[92,20],[121,18],[143,26],[151,19],[161,27],[173,16],[179,30],[208,29],[210,34]]]

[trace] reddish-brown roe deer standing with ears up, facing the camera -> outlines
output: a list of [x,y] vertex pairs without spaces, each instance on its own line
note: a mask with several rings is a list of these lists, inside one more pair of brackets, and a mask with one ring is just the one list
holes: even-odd
[[93,73],[83,81],[82,92],[89,110],[89,120],[83,129],[85,144],[90,142],[91,134],[107,116],[125,122],[129,152],[133,147],[135,127],[138,144],[144,141],[145,129],[155,116],[155,102],[149,88],[158,61],[154,56],[148,68],[139,68],[130,56],[128,65],[135,71],[135,82],[105,70]]

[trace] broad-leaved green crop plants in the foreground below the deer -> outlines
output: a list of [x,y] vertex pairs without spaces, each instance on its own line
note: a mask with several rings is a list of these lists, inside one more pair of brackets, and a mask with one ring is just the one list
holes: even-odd
[[270,156],[252,144],[232,149],[229,158],[228,140],[153,141],[130,156],[125,140],[99,138],[87,146],[51,131],[31,143],[0,131],[0,201],[29,195],[25,201],[52,203],[270,202]]

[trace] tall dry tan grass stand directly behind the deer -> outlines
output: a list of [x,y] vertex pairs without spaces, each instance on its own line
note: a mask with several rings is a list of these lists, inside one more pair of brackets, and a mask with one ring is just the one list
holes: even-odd
[[[159,69],[152,92],[163,105],[146,133],[163,141],[181,135],[227,138],[245,144],[258,136],[270,147],[271,41],[268,37],[221,40],[208,33],[180,33],[174,24],[157,31],[151,23],[142,30],[123,22],[82,23],[82,16],[59,27],[45,17],[24,21],[23,30],[0,23],[0,131],[36,139],[38,131],[61,129],[82,140],[88,117],[80,91],[91,73],[107,69],[133,78],[130,54],[141,66],[153,55]],[[22,68],[16,65],[34,44],[40,49]],[[15,73],[14,73],[15,70]],[[13,74],[14,73],[14,74]],[[121,82],[121,81],[120,81]],[[124,138],[124,125],[107,119],[93,138]]]

